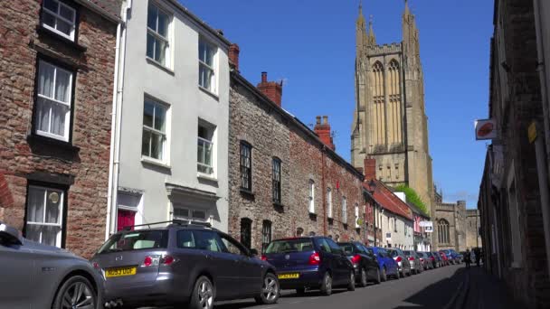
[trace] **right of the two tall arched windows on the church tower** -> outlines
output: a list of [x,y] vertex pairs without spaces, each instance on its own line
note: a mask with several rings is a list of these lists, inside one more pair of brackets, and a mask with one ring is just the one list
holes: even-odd
[[402,108],[401,108],[401,79],[399,63],[390,61],[388,72],[388,143],[393,147],[402,145]]

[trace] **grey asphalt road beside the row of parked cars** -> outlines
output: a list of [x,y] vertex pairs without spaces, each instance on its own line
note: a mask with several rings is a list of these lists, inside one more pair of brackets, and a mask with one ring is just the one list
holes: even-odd
[[399,280],[390,279],[380,285],[358,287],[354,292],[335,289],[333,295],[323,296],[318,291],[296,295],[283,291],[278,304],[258,305],[253,299],[216,303],[215,309],[241,308],[299,308],[299,309],[365,309],[365,308],[434,308],[445,309],[454,295],[458,294],[464,280],[464,264],[441,267]]

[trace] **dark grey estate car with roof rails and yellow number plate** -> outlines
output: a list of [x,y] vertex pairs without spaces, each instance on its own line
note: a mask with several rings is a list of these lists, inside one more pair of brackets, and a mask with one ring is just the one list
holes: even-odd
[[255,253],[209,224],[175,220],[119,231],[91,261],[105,274],[108,308],[212,309],[214,301],[249,297],[274,304],[280,295],[275,267]]

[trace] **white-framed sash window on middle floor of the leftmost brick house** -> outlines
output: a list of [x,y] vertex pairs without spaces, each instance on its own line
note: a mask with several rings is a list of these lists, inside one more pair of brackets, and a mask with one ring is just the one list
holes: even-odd
[[69,141],[72,72],[38,61],[35,131],[40,136]]

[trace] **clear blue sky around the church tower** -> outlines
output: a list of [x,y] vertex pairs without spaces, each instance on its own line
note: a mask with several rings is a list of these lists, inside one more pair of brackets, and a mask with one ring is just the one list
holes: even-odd
[[[337,153],[349,160],[355,106],[358,0],[180,0],[241,47],[241,72],[285,80],[282,105],[305,124],[327,115]],[[411,0],[420,29],[433,179],[445,201],[476,207],[486,143],[473,121],[488,117],[493,1]],[[401,42],[403,0],[365,0],[376,41]]]

